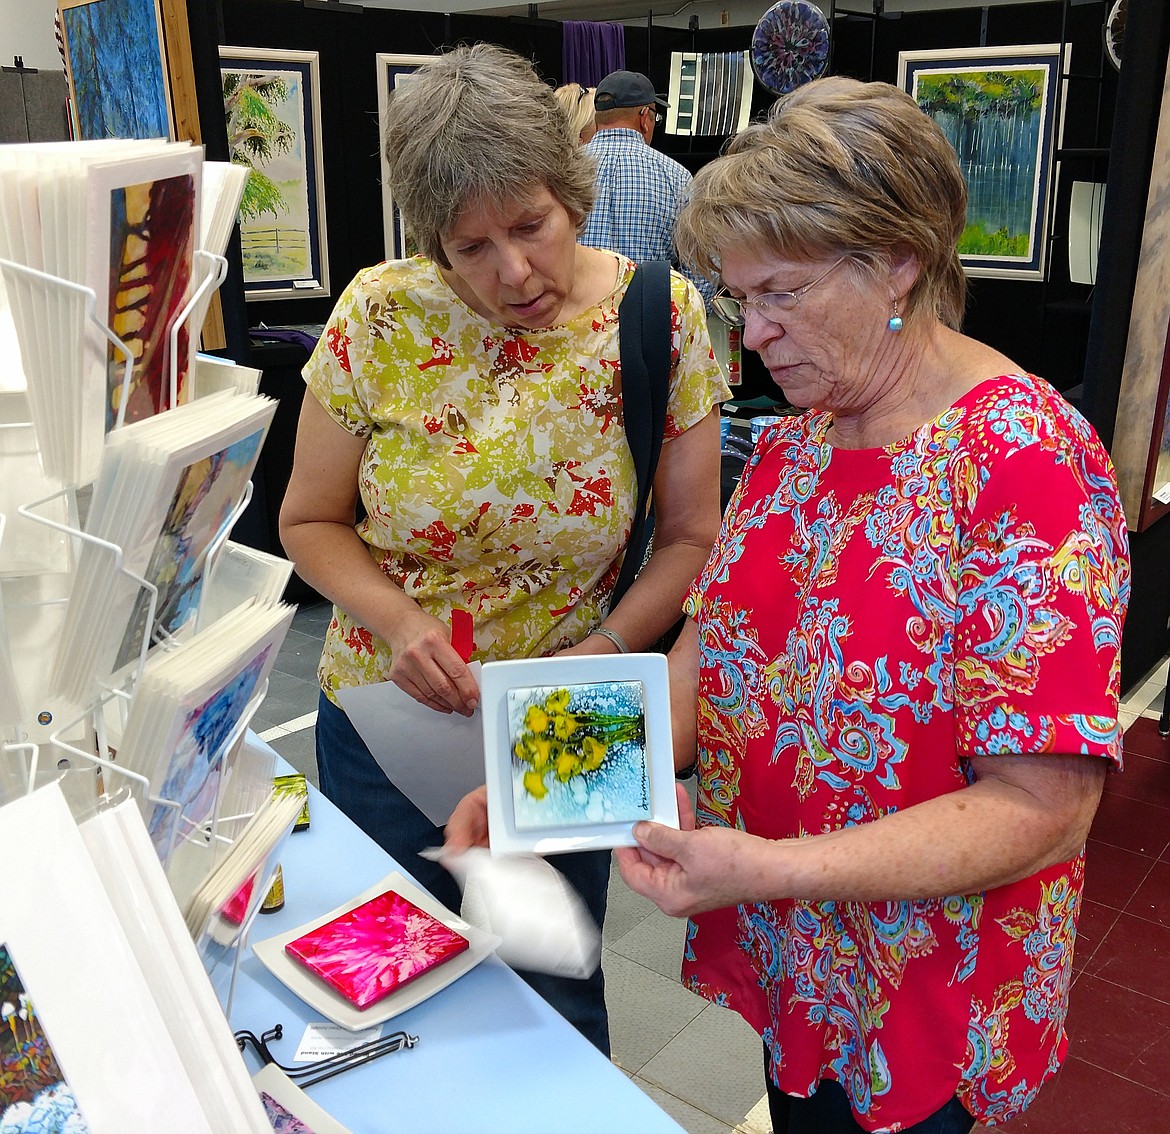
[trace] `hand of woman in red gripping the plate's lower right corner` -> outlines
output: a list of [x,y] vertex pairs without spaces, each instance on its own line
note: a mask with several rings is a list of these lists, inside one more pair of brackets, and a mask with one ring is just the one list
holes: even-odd
[[626,885],[672,917],[689,917],[746,900],[745,893],[756,888],[751,881],[758,871],[753,852],[775,844],[728,827],[696,831],[686,788],[676,784],[675,790],[681,830],[638,823],[638,846],[613,852]]

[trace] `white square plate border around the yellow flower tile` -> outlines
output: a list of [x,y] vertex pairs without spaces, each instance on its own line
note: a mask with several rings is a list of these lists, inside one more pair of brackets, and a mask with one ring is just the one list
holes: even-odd
[[488,833],[493,854],[557,854],[635,845],[633,822],[581,823],[538,831],[517,831],[512,810],[508,690],[613,681],[642,683],[646,769],[649,778],[648,818],[666,826],[679,826],[679,803],[674,792],[674,745],[670,738],[670,693],[663,654],[592,654],[489,661],[484,664],[480,680],[480,709],[483,713],[483,764],[488,784]]

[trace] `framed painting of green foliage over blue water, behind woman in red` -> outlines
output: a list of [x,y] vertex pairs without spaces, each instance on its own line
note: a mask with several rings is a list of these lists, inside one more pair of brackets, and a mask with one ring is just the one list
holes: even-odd
[[897,82],[941,128],[966,179],[968,275],[1042,280],[1068,47],[900,51]]

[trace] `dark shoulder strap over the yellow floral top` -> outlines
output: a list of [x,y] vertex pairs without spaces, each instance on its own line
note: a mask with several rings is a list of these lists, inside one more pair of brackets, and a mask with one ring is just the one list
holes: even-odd
[[618,341],[621,401],[626,438],[638,473],[638,504],[611,607],[618,605],[641,570],[649,541],[647,504],[662,449],[670,389],[670,264],[667,261],[648,260],[634,269],[618,307]]

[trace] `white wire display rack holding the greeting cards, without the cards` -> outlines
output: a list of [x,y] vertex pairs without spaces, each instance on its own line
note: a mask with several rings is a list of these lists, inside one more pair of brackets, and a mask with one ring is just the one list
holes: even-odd
[[[197,250],[194,259],[200,276],[199,283],[181,310],[176,314],[166,331],[168,344],[168,384],[161,412],[166,412],[179,404],[179,338],[181,330],[191,318],[192,312],[198,312],[206,307],[204,303],[205,296],[209,296],[209,293],[222,283],[227,273],[227,261],[222,256]],[[129,401],[128,394],[132,389],[135,356],[128,345],[97,315],[97,296],[94,290],[70,280],[50,275],[9,260],[0,259],[0,268],[5,273],[12,273],[23,281],[26,300],[37,289],[42,289],[46,293],[58,289],[70,295],[74,301],[80,300],[82,302],[85,324],[92,325],[98,331],[101,336],[98,342],[103,344],[103,351],[105,349],[104,343],[109,343],[113,348],[117,365],[122,367],[121,397],[112,428],[124,427],[125,410]],[[11,279],[12,276],[8,277]],[[41,300],[43,301],[44,297],[42,296]],[[50,304],[42,302],[41,307],[43,310],[48,310]],[[85,336],[83,335],[84,338]],[[92,348],[90,346],[89,349]],[[14,425],[20,427],[32,425],[34,434],[37,437],[39,446],[43,452],[43,415],[40,415],[39,419],[39,415],[34,414],[34,419],[30,422],[14,422]],[[0,751],[2,751],[6,763],[5,771],[11,772],[12,767],[20,767],[23,772],[20,777],[22,781],[20,786],[26,792],[40,786],[47,776],[61,778],[70,771],[81,769],[85,769],[87,772],[91,771],[91,798],[81,800],[77,804],[78,810],[88,810],[90,805],[97,805],[103,800],[108,800],[112,793],[118,791],[116,778],[122,777],[121,782],[124,789],[129,790],[135,798],[142,800],[140,806],[163,807],[166,811],[165,826],[160,827],[164,832],[160,845],[160,858],[164,862],[171,858],[179,843],[190,841],[207,846],[211,851],[208,858],[212,865],[214,865],[219,859],[219,855],[215,853],[216,847],[229,845],[233,841],[233,836],[226,832],[232,831],[233,834],[236,833],[242,823],[250,817],[247,815],[223,815],[226,776],[222,772],[230,754],[241,743],[253,715],[263,701],[267,693],[267,681],[248,700],[239,719],[227,731],[227,735],[207,754],[206,768],[208,778],[213,775],[216,776],[214,803],[207,819],[198,823],[186,820],[183,816],[184,805],[180,800],[167,798],[160,792],[151,791],[151,783],[146,776],[117,762],[118,738],[121,730],[125,727],[129,708],[140,683],[147,654],[151,650],[165,651],[174,648],[176,642],[165,630],[154,625],[159,597],[158,587],[126,566],[124,548],[83,530],[78,495],[84,487],[77,483],[67,484],[55,493],[19,506],[16,511],[33,523],[54,529],[67,536],[75,551],[75,562],[77,558],[76,551],[80,547],[89,544],[99,549],[102,556],[108,557],[106,562],[110,565],[111,578],[121,577],[128,579],[135,587],[136,593],[145,591],[146,620],[142,632],[137,659],[121,676],[108,675],[94,680],[91,682],[94,687],[92,695],[85,699],[80,707],[62,706],[60,712],[55,712],[57,707],[53,705],[51,700],[47,695],[42,696],[46,690],[37,690],[36,708],[39,710],[40,723],[46,724],[51,721],[54,727],[51,731],[46,729],[37,734],[41,738],[40,743],[32,741],[29,737],[28,729],[33,727],[32,721],[27,722],[26,729],[13,729],[11,740],[0,743]],[[246,482],[239,501],[230,509],[211,541],[205,558],[205,578],[211,575],[215,558],[227,542],[233,525],[248,507],[252,492],[250,481]],[[64,522],[42,514],[43,509],[50,503],[63,506]],[[4,521],[5,517],[0,515],[0,524]],[[0,536],[2,536],[2,527],[0,527]],[[66,602],[66,598],[49,599],[41,605],[56,605]],[[201,605],[200,602],[191,620],[193,630],[200,628]],[[62,716],[64,717],[63,720],[61,719]],[[0,740],[4,738],[0,737]],[[51,752],[53,757],[55,757],[53,768],[44,767],[47,752]],[[87,796],[90,796],[88,788],[85,792]],[[260,896],[250,905],[248,916],[240,921],[239,927],[229,935],[230,940],[227,942],[222,940],[216,942],[225,948],[221,948],[214,957],[211,957],[214,950],[201,950],[201,955],[205,956],[205,964],[211,964],[213,968],[222,962],[226,953],[229,951],[233,954],[229,988],[234,988],[235,968],[239,964],[239,946],[245,940],[247,929],[250,927],[252,920],[260,908],[262,895],[267,892],[266,887],[270,882],[274,872],[275,859],[269,855],[253,877],[254,882],[261,884],[259,887]],[[221,934],[221,936],[223,935]],[[230,992],[228,996],[230,996]]]

